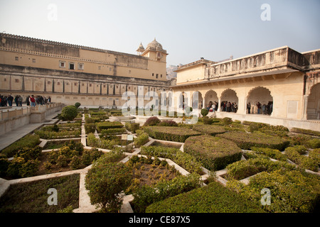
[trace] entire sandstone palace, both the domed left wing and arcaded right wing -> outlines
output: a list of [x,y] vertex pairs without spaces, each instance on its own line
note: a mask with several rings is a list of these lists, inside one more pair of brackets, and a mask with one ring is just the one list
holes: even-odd
[[[320,50],[297,52],[284,46],[224,62],[201,59],[178,67],[176,83],[166,80],[168,53],[156,39],[146,48],[139,45],[137,52],[0,33],[0,94],[119,108],[127,101],[124,92],[138,97],[166,92],[167,97],[178,94],[165,101],[168,106],[174,101],[178,111],[216,102],[217,117],[320,131]],[[192,100],[194,92],[198,100]],[[237,111],[224,111],[226,102],[236,104]],[[272,111],[258,113],[258,102]]]

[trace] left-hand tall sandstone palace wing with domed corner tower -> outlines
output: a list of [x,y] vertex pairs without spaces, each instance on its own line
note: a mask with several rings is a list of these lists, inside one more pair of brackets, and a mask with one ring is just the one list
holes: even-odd
[[169,89],[166,55],[154,39],[137,55],[0,33],[0,94],[121,107],[124,92]]

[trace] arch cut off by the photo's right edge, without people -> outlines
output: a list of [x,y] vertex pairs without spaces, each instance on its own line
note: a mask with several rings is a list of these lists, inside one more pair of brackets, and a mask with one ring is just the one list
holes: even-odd
[[310,89],[306,118],[320,119],[320,83],[314,84]]

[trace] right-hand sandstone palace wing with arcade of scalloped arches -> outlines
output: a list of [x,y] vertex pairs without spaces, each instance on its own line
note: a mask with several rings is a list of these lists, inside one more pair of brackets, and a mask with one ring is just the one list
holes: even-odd
[[[174,92],[198,92],[199,108],[216,102],[217,117],[320,131],[320,50],[300,53],[284,46],[225,62],[201,59],[176,72]],[[183,101],[194,108],[191,97]],[[223,111],[228,101],[237,104],[236,113]],[[258,102],[272,112],[257,114]]]

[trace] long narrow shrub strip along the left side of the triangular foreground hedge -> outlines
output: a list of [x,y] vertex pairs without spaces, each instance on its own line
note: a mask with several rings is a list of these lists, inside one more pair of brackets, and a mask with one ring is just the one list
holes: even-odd
[[138,213],[156,201],[161,201],[171,196],[191,191],[201,186],[200,175],[190,174],[178,176],[169,181],[158,182],[154,187],[144,185],[134,192],[134,209]]

